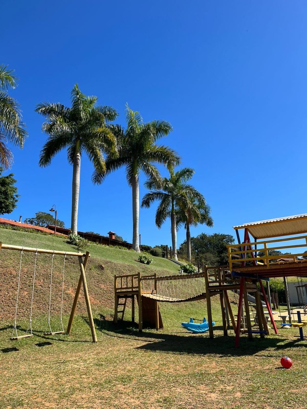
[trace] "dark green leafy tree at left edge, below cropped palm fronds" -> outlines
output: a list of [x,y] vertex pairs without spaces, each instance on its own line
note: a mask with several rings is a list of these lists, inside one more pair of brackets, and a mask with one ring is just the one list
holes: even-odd
[[[3,167],[0,166],[0,175],[2,172]],[[17,180],[13,176],[14,173],[0,176],[0,214],[9,214],[17,207],[20,195],[17,194],[18,189],[14,186]]]

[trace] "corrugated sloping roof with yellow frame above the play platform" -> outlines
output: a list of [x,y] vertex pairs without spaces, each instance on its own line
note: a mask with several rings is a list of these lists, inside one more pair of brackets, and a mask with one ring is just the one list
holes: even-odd
[[248,229],[253,238],[273,238],[307,233],[307,213],[278,219],[260,220],[234,226],[235,230]]

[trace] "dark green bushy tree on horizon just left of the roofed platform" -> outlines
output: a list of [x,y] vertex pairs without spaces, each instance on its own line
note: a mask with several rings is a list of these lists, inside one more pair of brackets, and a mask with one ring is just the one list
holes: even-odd
[[[195,261],[206,265],[228,264],[227,245],[235,243],[231,234],[205,234],[201,233],[191,237],[191,253]],[[180,245],[178,254],[187,254],[186,240]]]

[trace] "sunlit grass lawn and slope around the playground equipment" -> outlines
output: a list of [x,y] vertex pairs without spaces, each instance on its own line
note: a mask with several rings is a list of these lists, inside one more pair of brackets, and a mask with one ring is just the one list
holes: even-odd
[[[63,239],[0,229],[4,243],[71,250]],[[153,265],[136,263],[133,252],[91,245],[87,271],[89,293],[98,343],[91,341],[84,299],[81,297],[72,335],[46,337],[48,259],[38,269],[39,293],[33,318],[34,337],[9,341],[14,321],[18,253],[0,252],[0,408],[263,408],[307,407],[307,341],[298,329],[280,330],[265,339],[246,336],[234,348],[233,331],[222,335],[219,298],[213,297],[215,337],[191,335],[180,325],[186,317],[206,316],[205,301],[170,305],[160,303],[163,330],[139,333],[129,321],[112,322],[113,274],[149,267],[159,274],[173,274],[178,267],[163,259]],[[31,260],[23,274],[31,279]],[[14,266],[13,266],[14,264]],[[99,266],[103,265],[104,269]],[[60,264],[59,264],[60,266]],[[71,262],[65,281],[64,326],[67,325],[78,271]],[[13,268],[14,267],[14,268]],[[9,280],[3,277],[9,276]],[[55,281],[57,275],[55,274]],[[12,282],[11,287],[10,282]],[[18,313],[20,333],[27,328],[29,283],[23,283]],[[6,290],[9,288],[9,290]],[[60,281],[54,292],[59,292]],[[72,294],[71,294],[72,292]],[[7,301],[12,304],[9,309]],[[54,304],[59,304],[59,298]],[[7,313],[5,313],[7,312]],[[129,320],[129,308],[126,319]],[[13,314],[13,316],[12,316]],[[57,325],[59,308],[52,310]],[[137,318],[137,317],[136,317]],[[278,326],[280,327],[280,326]],[[306,327],[305,327],[306,328]],[[307,331],[304,332],[307,335]],[[289,370],[280,358],[293,360]]]

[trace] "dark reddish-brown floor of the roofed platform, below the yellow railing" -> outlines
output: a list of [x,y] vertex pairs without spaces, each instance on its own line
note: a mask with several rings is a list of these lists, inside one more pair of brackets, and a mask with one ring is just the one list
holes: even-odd
[[295,263],[271,263],[270,268],[267,268],[266,265],[233,267],[233,271],[269,278],[284,276],[307,276],[307,260],[296,261]]

